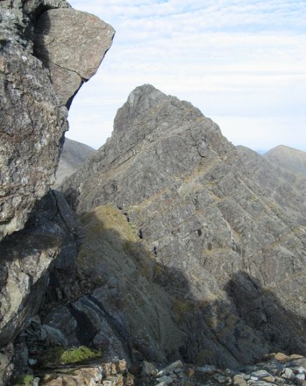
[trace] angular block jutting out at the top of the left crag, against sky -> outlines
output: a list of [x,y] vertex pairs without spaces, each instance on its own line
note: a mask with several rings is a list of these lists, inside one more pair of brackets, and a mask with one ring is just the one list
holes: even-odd
[[35,54],[50,69],[60,101],[70,105],[111,47],[113,28],[89,13],[73,8],[43,12],[36,22]]

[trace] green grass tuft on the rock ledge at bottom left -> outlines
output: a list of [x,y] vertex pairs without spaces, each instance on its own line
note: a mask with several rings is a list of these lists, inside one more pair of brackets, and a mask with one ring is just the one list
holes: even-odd
[[63,364],[78,364],[90,359],[101,358],[101,353],[97,350],[91,350],[86,346],[67,347],[59,346],[48,350],[41,360],[41,364],[46,367],[53,367]]

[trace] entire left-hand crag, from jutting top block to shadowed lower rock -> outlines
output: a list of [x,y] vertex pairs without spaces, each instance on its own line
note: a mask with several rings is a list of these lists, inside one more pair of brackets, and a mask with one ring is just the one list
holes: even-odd
[[[67,267],[76,255],[81,225],[60,194],[46,194],[55,180],[68,128],[67,106],[97,70],[114,32],[64,0],[1,1],[0,20],[0,385],[4,385],[13,371],[12,341],[39,309],[50,270],[55,264]],[[63,86],[53,65],[60,67],[64,79],[70,72],[79,73],[78,82]]]

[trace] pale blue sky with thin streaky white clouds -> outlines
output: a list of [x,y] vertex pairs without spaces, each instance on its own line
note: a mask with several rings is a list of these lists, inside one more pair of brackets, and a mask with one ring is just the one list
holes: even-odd
[[70,0],[116,29],[67,137],[96,149],[141,84],[188,100],[234,145],[306,151],[306,0]]

